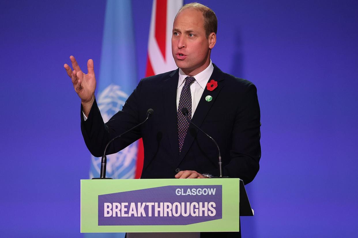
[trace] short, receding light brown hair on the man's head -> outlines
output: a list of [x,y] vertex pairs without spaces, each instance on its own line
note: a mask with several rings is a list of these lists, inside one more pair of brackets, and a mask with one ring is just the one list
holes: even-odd
[[216,32],[218,31],[218,19],[213,10],[198,2],[192,2],[182,6],[176,15],[178,15],[180,11],[185,9],[195,9],[203,13],[206,38],[208,38],[212,32],[215,32],[216,34]]

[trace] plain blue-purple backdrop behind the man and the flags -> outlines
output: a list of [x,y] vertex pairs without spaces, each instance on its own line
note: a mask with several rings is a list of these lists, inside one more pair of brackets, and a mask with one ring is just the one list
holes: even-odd
[[[212,61],[258,88],[261,168],[243,237],[357,236],[358,2],[201,2],[218,16]],[[139,81],[151,1],[132,13]],[[104,14],[105,1],[0,3],[3,237],[83,237],[90,155],[63,64],[92,58],[100,74]]]

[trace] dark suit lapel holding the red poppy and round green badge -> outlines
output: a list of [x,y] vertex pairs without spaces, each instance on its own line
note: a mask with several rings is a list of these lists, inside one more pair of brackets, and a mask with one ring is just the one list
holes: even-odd
[[[200,127],[202,125],[205,116],[209,112],[213,103],[216,101],[216,98],[217,98],[219,92],[221,91],[222,87],[224,86],[224,83],[222,82],[224,80],[223,72],[216,65],[213,64],[213,66],[214,66],[214,71],[213,71],[211,77],[209,78],[208,82],[210,82],[211,80],[215,80],[218,82],[218,86],[213,91],[209,91],[209,90],[207,90],[207,88],[204,89],[204,92],[200,98],[197,109],[195,110],[194,116],[192,118],[192,122],[195,125],[197,125],[198,127]],[[205,100],[206,96],[212,96],[212,100],[209,102],[206,101]],[[178,124],[178,122],[176,122],[176,124]],[[190,125],[188,128],[188,132],[187,132],[187,135],[185,136],[182,151],[180,152],[178,161],[176,161],[177,166],[180,164],[180,162],[183,160],[183,158],[187,154],[189,148],[192,146],[193,141],[196,137],[196,133],[195,134],[190,133],[192,128],[195,128],[195,127],[193,125]],[[195,131],[197,131],[196,128],[195,128]],[[177,132],[177,134],[178,134],[178,132]],[[178,138],[177,138],[177,143],[178,143]]]

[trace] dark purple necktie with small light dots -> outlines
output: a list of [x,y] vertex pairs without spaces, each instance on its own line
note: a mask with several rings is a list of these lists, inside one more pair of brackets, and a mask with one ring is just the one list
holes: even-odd
[[194,77],[186,77],[184,87],[180,93],[178,106],[178,140],[179,140],[179,154],[182,151],[184,139],[187,135],[189,122],[187,117],[183,115],[182,109],[186,107],[189,111],[189,118],[192,118],[192,93],[190,92],[190,85],[195,81]]

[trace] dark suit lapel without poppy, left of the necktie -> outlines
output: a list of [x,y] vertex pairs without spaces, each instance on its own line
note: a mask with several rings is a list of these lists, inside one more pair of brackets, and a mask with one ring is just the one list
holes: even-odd
[[176,112],[176,89],[178,87],[179,69],[170,74],[163,83],[163,103],[167,123],[169,142],[174,158],[179,154],[178,119]]

